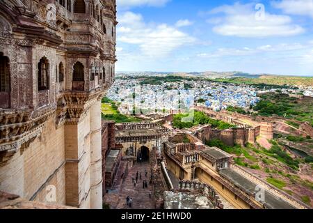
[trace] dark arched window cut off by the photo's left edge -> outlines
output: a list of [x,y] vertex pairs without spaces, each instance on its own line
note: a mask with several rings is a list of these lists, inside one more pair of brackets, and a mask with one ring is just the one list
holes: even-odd
[[0,52],[0,107],[10,107],[10,66],[7,56]]

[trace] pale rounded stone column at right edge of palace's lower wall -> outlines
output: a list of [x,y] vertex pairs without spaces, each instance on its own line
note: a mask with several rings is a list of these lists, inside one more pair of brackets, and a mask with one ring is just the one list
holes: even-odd
[[90,107],[90,208],[102,208],[101,102]]

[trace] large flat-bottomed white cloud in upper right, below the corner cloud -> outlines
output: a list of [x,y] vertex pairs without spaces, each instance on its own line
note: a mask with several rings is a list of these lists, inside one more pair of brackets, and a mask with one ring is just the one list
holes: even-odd
[[304,32],[301,26],[292,23],[287,15],[273,15],[264,13],[264,19],[256,17],[255,4],[235,3],[214,8],[209,15],[222,13],[224,17],[211,18],[216,24],[215,33],[223,36],[237,36],[246,38],[265,38],[269,36],[294,36]]

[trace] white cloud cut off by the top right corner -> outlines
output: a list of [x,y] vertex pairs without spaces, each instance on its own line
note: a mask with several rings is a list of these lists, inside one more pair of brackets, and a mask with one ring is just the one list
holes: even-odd
[[313,18],[313,0],[272,1],[271,5],[290,15],[305,15]]

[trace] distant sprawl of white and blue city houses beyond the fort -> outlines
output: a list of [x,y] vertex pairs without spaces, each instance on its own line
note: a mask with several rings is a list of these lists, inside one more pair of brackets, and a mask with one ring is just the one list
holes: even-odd
[[196,80],[141,85],[138,79],[116,79],[107,96],[121,103],[123,114],[133,114],[138,108],[146,114],[170,113],[175,109],[188,109],[199,100],[201,105],[215,111],[229,106],[249,109],[259,101],[257,90],[251,86]]

